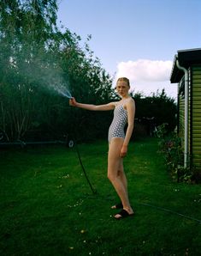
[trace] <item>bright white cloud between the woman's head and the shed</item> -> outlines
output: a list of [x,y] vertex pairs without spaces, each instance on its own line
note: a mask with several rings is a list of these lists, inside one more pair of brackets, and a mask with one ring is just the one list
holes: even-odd
[[120,62],[117,65],[115,81],[118,77],[126,76],[135,92],[148,95],[165,88],[168,95],[176,97],[177,87],[169,81],[172,65],[173,62],[169,60],[139,59]]

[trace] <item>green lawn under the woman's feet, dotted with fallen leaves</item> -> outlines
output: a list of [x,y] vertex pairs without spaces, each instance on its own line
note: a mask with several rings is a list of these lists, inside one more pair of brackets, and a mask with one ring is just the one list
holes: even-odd
[[136,214],[121,221],[110,209],[118,198],[106,178],[107,143],[79,149],[97,194],[75,149],[1,151],[1,255],[201,255],[201,188],[172,182],[157,139],[130,143],[125,170]]

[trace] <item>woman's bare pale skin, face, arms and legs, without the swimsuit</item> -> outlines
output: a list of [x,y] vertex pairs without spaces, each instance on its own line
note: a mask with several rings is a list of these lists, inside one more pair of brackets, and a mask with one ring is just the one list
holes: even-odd
[[[129,88],[126,81],[117,82],[116,91],[121,96],[121,101],[118,102],[110,102],[104,105],[92,105],[79,103],[72,98],[69,104],[73,107],[80,107],[92,111],[109,111],[115,109],[116,105],[123,104],[123,107],[127,110],[127,132],[125,138],[112,137],[109,142],[108,178],[121,199],[123,209],[127,210],[129,215],[132,215],[133,209],[129,203],[127,194],[127,177],[123,168],[123,158],[127,155],[127,147],[133,133],[135,115],[135,103],[128,94]],[[114,206],[112,208],[114,208]],[[121,217],[119,214],[115,215],[115,218],[119,217]]]

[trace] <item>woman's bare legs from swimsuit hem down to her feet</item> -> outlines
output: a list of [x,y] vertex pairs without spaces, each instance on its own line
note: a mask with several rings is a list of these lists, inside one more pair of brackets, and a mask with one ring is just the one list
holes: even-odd
[[109,143],[108,178],[121,199],[123,209],[127,210],[129,214],[132,214],[133,210],[127,195],[127,179],[124,174],[122,158],[120,156],[122,144],[123,139],[120,137],[112,138]]

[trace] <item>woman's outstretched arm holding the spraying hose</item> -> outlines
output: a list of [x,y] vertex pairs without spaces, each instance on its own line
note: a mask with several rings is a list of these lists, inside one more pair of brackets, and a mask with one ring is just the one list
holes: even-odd
[[115,108],[115,102],[110,102],[108,104],[103,104],[103,105],[92,105],[92,104],[79,103],[75,101],[74,98],[69,100],[69,105],[72,107],[80,107],[80,108],[84,108],[92,111],[107,111]]

